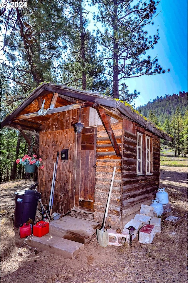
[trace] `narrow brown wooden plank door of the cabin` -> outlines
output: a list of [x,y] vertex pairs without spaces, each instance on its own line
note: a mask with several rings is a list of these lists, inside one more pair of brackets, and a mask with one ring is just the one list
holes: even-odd
[[97,127],[83,128],[77,137],[75,209],[94,211]]

